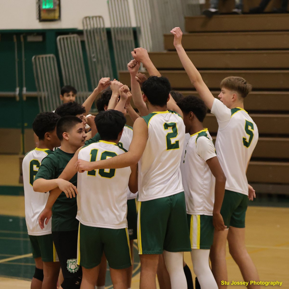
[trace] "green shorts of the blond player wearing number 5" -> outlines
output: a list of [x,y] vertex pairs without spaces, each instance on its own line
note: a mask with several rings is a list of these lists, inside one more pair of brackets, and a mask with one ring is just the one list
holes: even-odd
[[245,227],[248,201],[247,195],[225,190],[221,215],[227,228],[229,228],[229,226],[236,228]]

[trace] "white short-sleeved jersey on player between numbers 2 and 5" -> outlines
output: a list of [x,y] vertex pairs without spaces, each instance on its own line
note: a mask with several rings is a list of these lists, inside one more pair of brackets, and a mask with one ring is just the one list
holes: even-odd
[[206,161],[214,157],[215,147],[208,129],[190,136],[186,154],[181,162],[187,214],[213,215],[215,177]]

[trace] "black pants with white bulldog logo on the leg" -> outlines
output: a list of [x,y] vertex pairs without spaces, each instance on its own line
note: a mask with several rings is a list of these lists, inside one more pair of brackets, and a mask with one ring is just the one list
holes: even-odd
[[52,232],[54,246],[64,278],[63,289],[80,288],[82,269],[77,265],[78,230]]

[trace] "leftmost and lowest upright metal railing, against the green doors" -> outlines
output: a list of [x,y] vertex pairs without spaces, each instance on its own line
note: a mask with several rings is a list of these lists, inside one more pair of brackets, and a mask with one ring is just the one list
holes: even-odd
[[54,54],[34,55],[33,72],[40,112],[53,111],[60,105],[60,81]]

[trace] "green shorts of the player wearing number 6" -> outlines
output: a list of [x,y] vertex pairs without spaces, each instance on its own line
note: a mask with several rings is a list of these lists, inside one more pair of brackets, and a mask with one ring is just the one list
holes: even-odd
[[41,257],[43,262],[58,262],[58,256],[52,240],[52,234],[42,236],[29,235],[34,259]]

